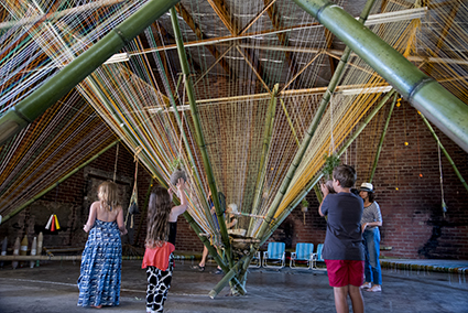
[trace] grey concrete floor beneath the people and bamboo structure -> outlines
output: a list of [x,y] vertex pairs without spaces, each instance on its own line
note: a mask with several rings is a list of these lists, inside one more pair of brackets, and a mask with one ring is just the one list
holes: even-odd
[[[335,312],[326,271],[251,269],[244,296],[230,296],[225,288],[211,300],[208,292],[221,279],[191,270],[177,261],[165,312]],[[0,312],[94,312],[78,307],[79,262],[47,261],[39,268],[0,269]],[[105,312],[145,311],[145,271],[141,261],[124,260],[121,301]],[[366,312],[468,312],[465,274],[384,270],[383,291],[363,292]],[[351,311],[351,310],[350,310]]]

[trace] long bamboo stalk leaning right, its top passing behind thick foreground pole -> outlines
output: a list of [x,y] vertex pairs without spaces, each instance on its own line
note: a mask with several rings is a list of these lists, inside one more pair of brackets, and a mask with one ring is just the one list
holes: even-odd
[[[367,17],[369,15],[370,9],[373,6],[374,0],[369,0],[366,3],[364,9],[362,10],[361,17],[359,18],[359,22],[357,22],[358,24],[361,25],[364,23],[364,21],[367,20]],[[301,164],[302,159],[304,158],[304,153],[305,151],[307,151],[308,145],[311,144],[312,138],[314,137],[315,131],[317,130],[317,127],[322,120],[322,117],[325,114],[325,109],[328,106],[328,102],[331,98],[333,93],[336,89],[336,86],[338,85],[339,79],[341,78],[341,75],[344,73],[345,69],[345,65],[348,62],[349,55],[351,53],[351,50],[346,47],[345,52],[339,61],[339,64],[330,79],[330,83],[328,84],[327,90],[324,94],[324,97],[322,98],[320,105],[304,136],[303,142],[301,143],[301,147],[298,149],[298,151],[296,152],[296,155],[294,156],[293,162],[291,163],[286,176],[284,177],[280,190],[277,191],[273,203],[271,205],[271,207],[269,208],[268,215],[265,220],[262,223],[262,225],[260,226],[260,229],[258,231],[258,237],[263,237],[263,233],[266,231],[268,227],[270,227],[270,224],[273,220],[273,216],[276,213],[277,207],[280,206],[281,202],[283,201],[284,194],[286,193],[291,181],[294,177],[294,174],[298,168],[298,165]]]

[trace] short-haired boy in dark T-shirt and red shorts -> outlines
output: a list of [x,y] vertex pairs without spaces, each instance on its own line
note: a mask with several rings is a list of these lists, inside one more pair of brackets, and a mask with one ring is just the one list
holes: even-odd
[[336,311],[349,312],[349,294],[352,312],[363,313],[364,302],[359,288],[364,273],[364,247],[360,225],[363,203],[359,196],[351,193],[357,179],[352,166],[337,166],[333,176],[336,194],[329,194],[328,188],[322,185],[324,201],[318,207],[320,216],[327,216],[323,256],[329,283],[334,288]]

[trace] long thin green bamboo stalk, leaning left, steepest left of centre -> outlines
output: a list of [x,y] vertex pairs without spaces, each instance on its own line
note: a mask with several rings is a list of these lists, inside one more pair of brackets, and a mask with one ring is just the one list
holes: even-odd
[[184,43],[182,41],[182,35],[181,35],[181,29],[178,25],[177,13],[175,12],[174,8],[171,8],[170,11],[171,11],[172,26],[174,30],[174,36],[177,44],[178,57],[181,61],[181,67],[182,67],[183,74],[185,75],[185,88],[187,91],[188,102],[191,105],[191,114],[192,114],[192,119],[193,119],[194,128],[196,132],[197,145],[202,153],[209,190],[211,191],[211,198],[215,205],[216,216],[218,218],[219,230],[221,233],[221,240],[222,240],[222,245],[225,246],[226,257],[229,261],[229,266],[233,266],[232,258],[231,258],[231,246],[229,241],[229,236],[226,228],[224,212],[221,211],[220,203],[219,203],[218,190],[216,187],[215,176],[213,175],[211,163],[209,161],[209,155],[206,149],[205,138],[202,131],[198,109],[195,101],[194,87],[192,84],[192,78],[191,78],[189,69],[188,69],[187,56],[185,54]]

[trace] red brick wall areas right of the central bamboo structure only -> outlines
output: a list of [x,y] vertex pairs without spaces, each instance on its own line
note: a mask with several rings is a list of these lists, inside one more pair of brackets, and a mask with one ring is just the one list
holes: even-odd
[[[382,115],[387,117],[385,109]],[[468,154],[437,129],[436,133],[467,179]],[[369,177],[380,134],[381,127],[370,123],[348,150],[348,164],[357,169],[358,186]],[[341,160],[346,161],[346,155]],[[390,251],[382,251],[382,256],[468,258],[468,191],[444,154],[440,160],[447,204],[445,217],[436,141],[414,108],[406,102],[395,107],[372,181],[383,216],[381,245],[392,247]],[[325,239],[326,224],[317,214],[316,197],[311,193],[307,199],[314,203],[305,214],[305,226],[298,207],[285,220],[295,227],[293,245],[301,241],[317,245]],[[281,231],[276,230],[275,235]]]

